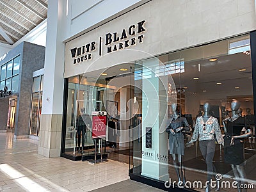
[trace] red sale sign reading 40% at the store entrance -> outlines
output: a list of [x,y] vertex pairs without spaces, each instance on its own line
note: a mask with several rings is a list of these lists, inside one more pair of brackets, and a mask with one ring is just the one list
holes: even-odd
[[107,116],[92,116],[92,138],[106,138]]

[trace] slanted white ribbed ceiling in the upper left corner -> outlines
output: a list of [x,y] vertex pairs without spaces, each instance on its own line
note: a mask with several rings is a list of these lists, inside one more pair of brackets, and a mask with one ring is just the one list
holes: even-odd
[[48,0],[0,0],[0,42],[13,45],[47,18]]

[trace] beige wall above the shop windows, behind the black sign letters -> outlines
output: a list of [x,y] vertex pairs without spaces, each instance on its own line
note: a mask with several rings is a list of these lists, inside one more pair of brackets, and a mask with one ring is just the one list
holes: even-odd
[[[255,18],[253,0],[150,1],[67,42],[65,77],[243,34],[256,29]],[[122,29],[128,29],[141,20],[147,20],[142,44],[108,54],[106,45],[103,45],[103,55],[99,56],[100,36],[104,43],[106,33],[120,34]],[[97,49],[91,52],[92,60],[74,65],[70,49],[93,41],[97,43]]]

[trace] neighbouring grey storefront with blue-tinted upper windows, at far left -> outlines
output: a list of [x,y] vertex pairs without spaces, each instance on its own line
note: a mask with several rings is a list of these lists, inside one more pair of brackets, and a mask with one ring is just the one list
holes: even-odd
[[15,138],[29,137],[33,72],[44,68],[45,47],[22,42],[1,57],[0,124]]

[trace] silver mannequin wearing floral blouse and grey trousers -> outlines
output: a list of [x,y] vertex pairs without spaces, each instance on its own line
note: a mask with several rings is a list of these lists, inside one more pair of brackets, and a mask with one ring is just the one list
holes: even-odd
[[[204,104],[204,115],[196,118],[195,130],[191,141],[187,144],[195,142],[199,136],[199,147],[204,157],[205,163],[207,165],[207,181],[211,181],[212,172],[216,170],[212,163],[214,153],[215,153],[215,138],[219,144],[223,144],[223,138],[221,136],[220,125],[217,118],[211,116],[211,105],[208,102]],[[211,188],[209,183],[205,191],[210,191]],[[219,190],[219,189],[217,189]]]

